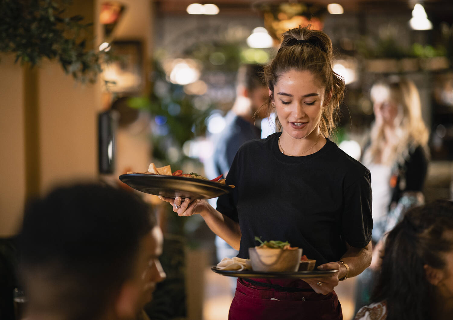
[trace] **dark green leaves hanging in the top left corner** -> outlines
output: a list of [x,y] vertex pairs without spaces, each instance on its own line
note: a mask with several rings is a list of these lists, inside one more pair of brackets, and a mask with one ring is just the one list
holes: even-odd
[[82,82],[94,82],[101,62],[110,53],[87,50],[94,39],[80,14],[64,16],[71,0],[2,0],[0,3],[0,52],[14,53],[15,62],[31,67],[43,58],[57,60],[64,72]]

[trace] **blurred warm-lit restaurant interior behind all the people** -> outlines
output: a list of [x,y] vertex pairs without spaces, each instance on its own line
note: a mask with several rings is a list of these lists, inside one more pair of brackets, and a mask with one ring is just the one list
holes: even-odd
[[[48,2],[35,2],[30,10],[42,14],[39,8]],[[238,66],[268,62],[279,34],[299,24],[332,38],[334,70],[347,84],[334,139],[340,147],[360,157],[373,121],[371,84],[407,76],[419,89],[431,132],[425,197],[451,198],[453,2],[337,2],[341,6],[327,0],[216,0],[204,6],[189,0],[74,0],[62,16],[80,18],[61,19],[57,28],[73,23],[80,31],[48,36],[55,41],[52,52],[38,46],[52,26],[13,34],[12,11],[0,10],[1,238],[19,230],[29,196],[62,182],[101,179],[126,188],[118,176],[144,172],[150,162],[203,174],[212,153],[209,137],[222,130],[235,98]],[[2,5],[13,3],[24,1]],[[263,136],[272,132],[271,124],[262,122]],[[158,319],[226,319],[230,282],[209,270],[216,263],[213,234],[200,217],[175,217],[169,205],[144,197],[166,234],[168,279],[150,312]],[[7,253],[5,242],[1,250]],[[13,280],[1,281],[3,290]],[[338,287],[345,319],[354,308],[348,281]]]

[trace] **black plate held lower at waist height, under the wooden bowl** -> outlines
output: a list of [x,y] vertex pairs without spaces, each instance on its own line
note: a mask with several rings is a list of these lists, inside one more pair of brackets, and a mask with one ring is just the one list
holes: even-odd
[[211,270],[228,277],[242,277],[242,278],[320,278],[328,277],[333,273],[338,272],[337,269],[333,270],[313,270],[313,271],[296,271],[296,272],[265,272],[265,271],[251,271],[251,270],[220,270],[217,267],[211,267]]

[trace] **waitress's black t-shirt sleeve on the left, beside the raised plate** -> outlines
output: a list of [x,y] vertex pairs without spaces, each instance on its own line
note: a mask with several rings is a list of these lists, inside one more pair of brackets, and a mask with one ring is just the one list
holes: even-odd
[[222,215],[226,215],[231,220],[239,223],[239,217],[237,214],[237,194],[239,189],[239,179],[238,179],[238,154],[236,154],[233,163],[231,164],[231,168],[226,175],[226,185],[233,185],[235,186],[229,193],[219,196],[217,199],[217,211],[222,213]]

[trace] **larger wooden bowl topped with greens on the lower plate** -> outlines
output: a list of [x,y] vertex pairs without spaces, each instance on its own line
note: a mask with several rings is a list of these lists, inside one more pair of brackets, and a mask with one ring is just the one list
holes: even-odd
[[249,248],[253,271],[295,272],[299,269],[302,249]]

